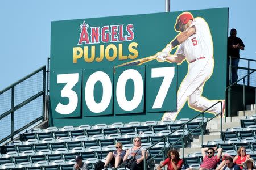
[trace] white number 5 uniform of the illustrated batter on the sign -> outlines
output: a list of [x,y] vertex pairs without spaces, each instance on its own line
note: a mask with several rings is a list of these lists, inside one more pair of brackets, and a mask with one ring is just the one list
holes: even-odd
[[[180,84],[177,92],[177,111],[166,112],[162,120],[175,120],[177,114],[188,100],[189,107],[203,112],[218,100],[208,100],[202,97],[204,83],[213,72],[213,43],[210,29],[203,18],[195,18],[190,27],[195,26],[195,34],[179,45],[176,54],[185,56],[188,64],[188,73]],[[208,112],[218,114],[221,104],[210,108]]]

